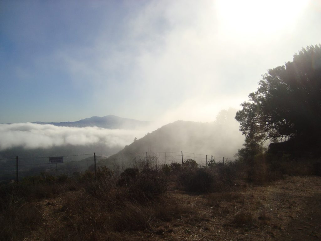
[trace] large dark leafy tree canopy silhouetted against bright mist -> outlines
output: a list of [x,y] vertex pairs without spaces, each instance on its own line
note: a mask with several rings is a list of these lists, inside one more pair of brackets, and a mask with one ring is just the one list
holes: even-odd
[[[269,69],[235,119],[254,145],[270,139],[321,139],[321,45],[302,48],[293,61]],[[252,144],[251,144],[252,143]]]

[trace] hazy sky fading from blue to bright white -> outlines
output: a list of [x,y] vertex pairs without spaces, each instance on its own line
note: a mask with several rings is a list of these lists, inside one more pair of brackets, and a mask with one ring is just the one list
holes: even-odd
[[321,42],[319,0],[0,2],[0,123],[214,121]]

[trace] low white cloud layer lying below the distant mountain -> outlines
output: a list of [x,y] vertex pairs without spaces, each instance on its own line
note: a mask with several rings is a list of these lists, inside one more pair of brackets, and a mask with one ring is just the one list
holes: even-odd
[[33,123],[0,124],[0,150],[19,146],[32,149],[97,143],[123,148],[143,134],[143,130],[59,127]]

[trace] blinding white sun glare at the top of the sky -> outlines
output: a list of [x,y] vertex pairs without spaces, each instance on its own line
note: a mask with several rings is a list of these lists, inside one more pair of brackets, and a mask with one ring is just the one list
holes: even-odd
[[293,28],[307,4],[308,0],[218,0],[216,11],[222,31],[271,34]]

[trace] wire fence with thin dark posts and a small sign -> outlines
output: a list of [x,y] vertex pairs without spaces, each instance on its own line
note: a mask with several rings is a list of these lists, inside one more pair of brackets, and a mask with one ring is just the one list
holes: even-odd
[[[61,162],[50,162],[50,156],[20,157],[0,159],[0,183],[18,182],[24,177],[51,174],[72,176],[87,170],[95,172],[107,166],[116,175],[126,168],[158,169],[171,163],[183,164],[192,159],[199,166],[206,167],[210,160],[224,163],[224,157],[190,152],[144,152],[144,153],[92,153],[59,156]],[[56,158],[56,157],[55,157]]]

